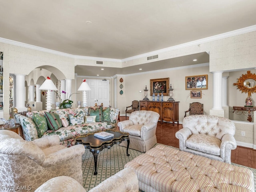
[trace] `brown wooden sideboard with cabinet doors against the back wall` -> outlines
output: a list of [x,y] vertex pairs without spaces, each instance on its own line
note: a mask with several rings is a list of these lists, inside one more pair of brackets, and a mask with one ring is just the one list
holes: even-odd
[[162,101],[140,101],[140,110],[150,110],[157,112],[161,123],[163,121],[178,122],[179,124],[179,101],[162,102]]

